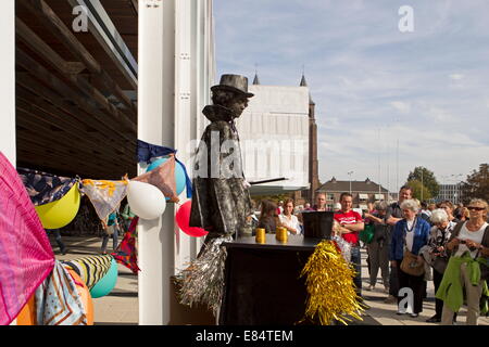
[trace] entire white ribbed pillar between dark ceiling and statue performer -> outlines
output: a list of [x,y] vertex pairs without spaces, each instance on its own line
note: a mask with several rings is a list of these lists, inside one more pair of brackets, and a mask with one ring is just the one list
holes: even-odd
[[[212,0],[204,4],[139,1],[138,139],[176,149],[189,171],[189,143],[202,134],[201,111],[215,72]],[[160,220],[138,226],[139,324],[168,323],[170,277],[195,259],[202,243],[175,227],[175,205],[166,206]]]

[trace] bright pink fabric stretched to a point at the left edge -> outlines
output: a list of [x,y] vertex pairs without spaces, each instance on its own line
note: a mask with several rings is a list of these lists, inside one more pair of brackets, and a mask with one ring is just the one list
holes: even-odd
[[27,191],[0,152],[0,324],[17,317],[53,267],[54,254]]

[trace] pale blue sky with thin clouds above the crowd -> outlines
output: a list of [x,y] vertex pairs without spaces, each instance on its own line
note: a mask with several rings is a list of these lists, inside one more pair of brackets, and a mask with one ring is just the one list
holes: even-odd
[[452,183],[489,162],[488,13],[487,0],[214,0],[216,78],[256,66],[262,85],[298,86],[304,65],[322,182],[353,170],[397,190],[425,166]]

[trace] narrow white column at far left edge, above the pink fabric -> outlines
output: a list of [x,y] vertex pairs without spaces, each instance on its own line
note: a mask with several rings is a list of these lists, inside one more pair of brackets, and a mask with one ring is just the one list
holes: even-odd
[[15,166],[15,0],[2,1],[0,43],[0,151]]

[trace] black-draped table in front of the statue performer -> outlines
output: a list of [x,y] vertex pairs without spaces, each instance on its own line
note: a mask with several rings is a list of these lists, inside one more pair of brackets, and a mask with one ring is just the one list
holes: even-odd
[[321,239],[289,235],[287,243],[266,234],[223,243],[227,258],[221,325],[298,323],[305,312],[305,278],[299,278]]

